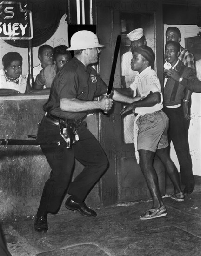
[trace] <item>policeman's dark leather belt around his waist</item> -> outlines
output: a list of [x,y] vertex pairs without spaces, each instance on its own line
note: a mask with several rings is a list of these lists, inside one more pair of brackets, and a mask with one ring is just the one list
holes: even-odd
[[78,128],[82,122],[82,118],[77,119],[68,119],[68,118],[62,118],[58,117],[56,115],[52,115],[50,113],[45,114],[45,117],[52,121],[54,124],[59,125],[61,122],[65,122],[67,125],[69,125],[70,128]]

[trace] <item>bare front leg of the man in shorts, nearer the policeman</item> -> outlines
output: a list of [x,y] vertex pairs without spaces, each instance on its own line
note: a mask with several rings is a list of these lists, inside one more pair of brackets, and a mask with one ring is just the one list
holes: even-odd
[[143,172],[148,189],[151,193],[153,206],[152,208],[158,209],[163,206],[161,192],[158,186],[158,177],[153,167],[153,159],[155,152],[140,149],[139,151],[140,156],[140,167],[141,171]]

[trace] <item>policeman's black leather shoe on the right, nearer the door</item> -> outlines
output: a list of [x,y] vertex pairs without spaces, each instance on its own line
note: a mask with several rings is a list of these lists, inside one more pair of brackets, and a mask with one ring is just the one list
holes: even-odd
[[68,197],[65,202],[65,207],[72,211],[77,210],[83,216],[95,217],[97,215],[96,212],[88,208],[84,202],[74,202],[70,197]]

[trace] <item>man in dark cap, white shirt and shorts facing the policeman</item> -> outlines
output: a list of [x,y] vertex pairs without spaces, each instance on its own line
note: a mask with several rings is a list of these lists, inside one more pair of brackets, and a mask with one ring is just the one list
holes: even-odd
[[[136,115],[134,125],[136,136],[134,137],[137,137],[137,140],[135,140],[135,148],[139,152],[141,171],[145,176],[153,200],[152,207],[145,211],[140,219],[148,220],[168,214],[162,201],[157,174],[153,167],[155,155],[163,162],[173,182],[175,191],[171,198],[175,200],[176,194],[179,197],[177,201],[183,201],[184,195],[181,191],[178,171],[169,156],[168,117],[162,111],[161,85],[156,72],[152,69],[154,66],[153,50],[148,46],[140,46],[133,49],[132,53],[131,68],[139,72],[137,89],[145,98],[127,105],[120,114],[123,115],[132,110]],[[131,84],[132,87],[133,84]]]

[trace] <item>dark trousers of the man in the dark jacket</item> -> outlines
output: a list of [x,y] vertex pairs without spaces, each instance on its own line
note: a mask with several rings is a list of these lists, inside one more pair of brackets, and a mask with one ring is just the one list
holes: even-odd
[[190,185],[194,182],[192,159],[188,143],[189,120],[185,119],[182,105],[178,108],[164,107],[169,118],[168,140],[172,141],[180,165],[181,182]]

